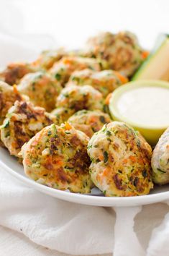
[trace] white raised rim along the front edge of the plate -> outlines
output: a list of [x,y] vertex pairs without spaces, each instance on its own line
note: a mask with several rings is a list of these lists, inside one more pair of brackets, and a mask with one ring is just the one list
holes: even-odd
[[152,195],[140,195],[132,197],[101,197],[96,195],[83,195],[78,193],[66,192],[59,189],[54,189],[47,187],[43,184],[39,184],[32,179],[29,179],[27,176],[17,173],[12,168],[6,165],[0,159],[0,166],[4,168],[9,174],[14,176],[14,178],[28,184],[30,187],[37,189],[40,192],[56,197],[60,200],[65,200],[68,202],[80,203],[83,205],[93,205],[93,206],[102,206],[102,207],[130,207],[138,205],[149,205],[155,202],[163,202],[169,199],[169,191],[160,192]]

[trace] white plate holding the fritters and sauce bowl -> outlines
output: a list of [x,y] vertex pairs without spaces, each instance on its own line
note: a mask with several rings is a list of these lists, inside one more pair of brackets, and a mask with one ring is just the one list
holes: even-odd
[[6,149],[0,148],[0,156],[0,167],[9,174],[24,182],[24,184],[28,184],[29,187],[34,187],[40,192],[69,202],[78,202],[83,205],[127,207],[148,205],[154,202],[169,200],[169,185],[155,187],[155,189],[152,189],[150,195],[142,195],[138,197],[104,197],[99,189],[93,189],[90,195],[80,195],[58,189],[52,189],[27,178],[27,176],[24,175],[22,165],[18,163],[15,158],[10,156]]

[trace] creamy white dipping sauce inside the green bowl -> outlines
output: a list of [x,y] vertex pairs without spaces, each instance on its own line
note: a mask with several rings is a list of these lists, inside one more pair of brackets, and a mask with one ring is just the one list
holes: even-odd
[[125,91],[118,98],[117,110],[135,124],[168,127],[169,89],[143,86]]

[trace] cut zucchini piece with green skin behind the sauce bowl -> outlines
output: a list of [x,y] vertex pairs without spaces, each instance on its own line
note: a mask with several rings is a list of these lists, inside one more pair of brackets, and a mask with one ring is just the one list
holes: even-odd
[[132,80],[165,80],[169,81],[169,35],[163,34],[157,38],[155,48]]

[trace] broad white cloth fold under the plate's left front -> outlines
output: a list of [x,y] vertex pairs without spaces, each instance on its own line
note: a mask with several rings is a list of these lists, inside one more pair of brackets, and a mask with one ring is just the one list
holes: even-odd
[[112,252],[115,213],[37,192],[0,171],[0,225],[73,255]]

